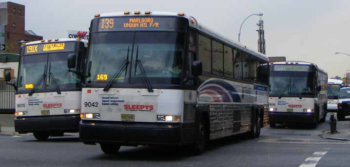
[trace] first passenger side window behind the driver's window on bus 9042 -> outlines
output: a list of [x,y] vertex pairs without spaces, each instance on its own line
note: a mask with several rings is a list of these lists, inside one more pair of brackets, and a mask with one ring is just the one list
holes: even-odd
[[203,71],[211,72],[211,40],[203,35],[198,35],[198,60],[202,61]]

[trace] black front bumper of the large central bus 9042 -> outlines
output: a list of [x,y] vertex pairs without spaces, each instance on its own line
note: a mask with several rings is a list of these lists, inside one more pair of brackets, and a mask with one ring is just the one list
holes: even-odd
[[82,120],[79,126],[79,137],[84,144],[181,145],[181,131],[181,123]]

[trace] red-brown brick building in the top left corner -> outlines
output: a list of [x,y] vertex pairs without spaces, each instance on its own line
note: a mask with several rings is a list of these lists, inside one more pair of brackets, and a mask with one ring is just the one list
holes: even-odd
[[[13,2],[0,2],[0,53],[19,54],[19,41],[41,40],[33,31],[25,31],[25,6]],[[3,33],[1,33],[3,32]],[[5,44],[5,45],[3,45]]]

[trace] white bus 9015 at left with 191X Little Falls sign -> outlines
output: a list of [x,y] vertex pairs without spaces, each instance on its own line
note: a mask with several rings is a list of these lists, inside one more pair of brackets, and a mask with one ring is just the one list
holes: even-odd
[[[78,132],[87,41],[47,39],[20,47],[15,131],[38,140]],[[70,59],[71,64],[67,64]],[[5,74],[7,81],[10,74]]]

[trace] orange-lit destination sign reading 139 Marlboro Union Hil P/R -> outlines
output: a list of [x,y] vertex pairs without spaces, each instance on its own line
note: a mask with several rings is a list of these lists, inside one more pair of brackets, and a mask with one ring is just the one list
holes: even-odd
[[174,30],[175,18],[101,18],[97,31]]

